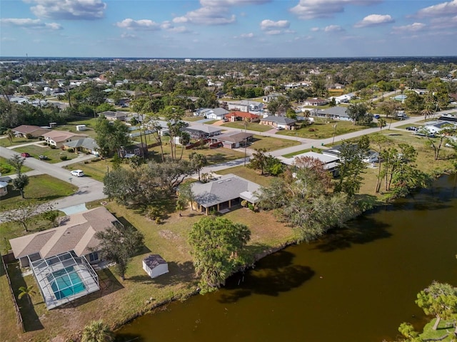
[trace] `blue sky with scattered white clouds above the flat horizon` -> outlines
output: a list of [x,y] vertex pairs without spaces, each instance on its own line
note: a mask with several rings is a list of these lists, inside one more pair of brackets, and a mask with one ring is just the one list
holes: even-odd
[[0,0],[0,56],[456,56],[457,0]]

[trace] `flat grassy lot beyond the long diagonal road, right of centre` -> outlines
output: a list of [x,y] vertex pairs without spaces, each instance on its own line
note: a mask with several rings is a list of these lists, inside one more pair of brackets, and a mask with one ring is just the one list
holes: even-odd
[[[278,133],[276,133],[276,135],[289,135],[292,137],[308,139],[326,139],[333,137],[333,133],[335,132],[335,125],[336,135],[343,135],[346,133],[356,132],[358,130],[364,130],[367,128],[366,126],[353,125],[353,123],[349,121],[341,120],[329,120],[329,122],[326,123],[325,119],[323,118],[321,121],[318,120],[312,125],[299,128],[298,130],[280,130],[278,131]],[[372,127],[376,127],[374,123],[372,123],[372,125]]]

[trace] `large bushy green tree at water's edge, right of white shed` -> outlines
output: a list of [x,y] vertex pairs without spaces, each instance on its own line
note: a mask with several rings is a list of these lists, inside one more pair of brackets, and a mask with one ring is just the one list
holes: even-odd
[[189,244],[201,294],[225,284],[233,272],[246,266],[243,249],[251,232],[244,224],[224,217],[204,217],[189,232]]

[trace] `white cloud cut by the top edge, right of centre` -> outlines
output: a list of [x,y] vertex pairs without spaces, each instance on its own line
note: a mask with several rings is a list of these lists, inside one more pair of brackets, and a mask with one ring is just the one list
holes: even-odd
[[299,0],[290,9],[299,19],[332,18],[334,14],[344,11],[347,5],[368,6],[382,0]]

